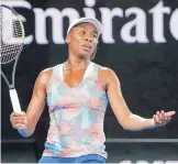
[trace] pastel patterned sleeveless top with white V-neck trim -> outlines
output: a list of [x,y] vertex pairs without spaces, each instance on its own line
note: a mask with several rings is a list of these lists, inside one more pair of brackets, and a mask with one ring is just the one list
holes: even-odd
[[100,68],[90,62],[81,83],[70,88],[64,81],[63,64],[53,67],[46,88],[51,122],[43,156],[107,157],[103,119],[108,96],[98,79]]

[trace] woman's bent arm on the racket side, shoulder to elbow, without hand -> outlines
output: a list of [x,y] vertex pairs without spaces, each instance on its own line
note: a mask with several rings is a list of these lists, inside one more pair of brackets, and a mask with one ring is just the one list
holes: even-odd
[[21,135],[30,136],[33,134],[36,123],[44,110],[45,98],[46,98],[46,85],[52,75],[52,69],[46,69],[40,73],[36,78],[32,99],[26,110],[24,119],[24,128],[18,129]]

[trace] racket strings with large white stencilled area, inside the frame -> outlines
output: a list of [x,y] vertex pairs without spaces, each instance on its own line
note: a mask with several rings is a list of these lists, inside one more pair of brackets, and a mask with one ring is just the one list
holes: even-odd
[[23,34],[18,18],[11,11],[2,10],[2,7],[0,7],[0,62],[5,64],[20,54],[23,46]]

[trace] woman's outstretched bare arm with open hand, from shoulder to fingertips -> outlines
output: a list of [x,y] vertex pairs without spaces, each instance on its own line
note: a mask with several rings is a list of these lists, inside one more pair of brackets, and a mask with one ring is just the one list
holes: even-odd
[[162,111],[160,113],[157,112],[156,116],[151,119],[145,119],[132,113],[122,96],[121,85],[118,76],[111,69],[108,69],[105,74],[107,91],[111,108],[116,117],[116,120],[124,129],[138,131],[143,129],[154,128],[155,125],[159,127],[166,124],[170,120],[170,117],[175,114],[175,111],[168,113]]

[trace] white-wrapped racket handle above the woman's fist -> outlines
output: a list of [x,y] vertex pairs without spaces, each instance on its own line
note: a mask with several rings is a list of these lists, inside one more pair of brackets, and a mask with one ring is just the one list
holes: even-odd
[[15,89],[10,89],[9,92],[10,92],[10,98],[11,98],[13,111],[21,113],[22,110],[21,110],[21,106],[20,106],[20,101],[19,101],[16,90]]

